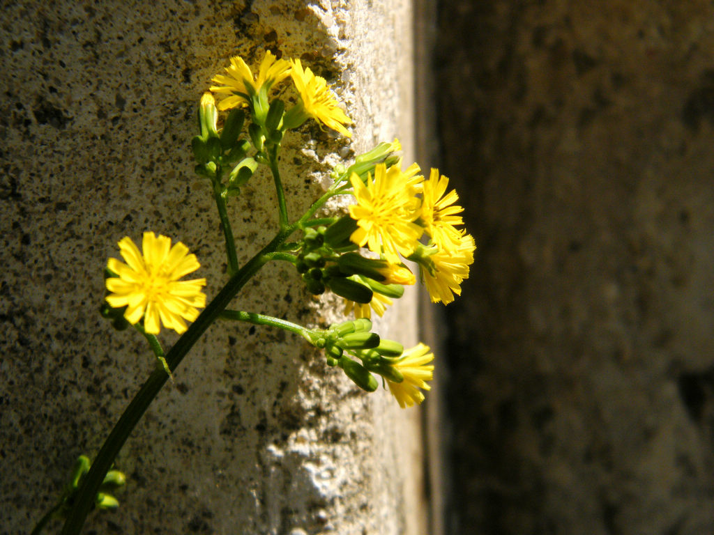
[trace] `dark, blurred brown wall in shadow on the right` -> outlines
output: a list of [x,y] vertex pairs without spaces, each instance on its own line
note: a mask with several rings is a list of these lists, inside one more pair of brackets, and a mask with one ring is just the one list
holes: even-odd
[[714,6],[441,4],[453,534],[714,531]]

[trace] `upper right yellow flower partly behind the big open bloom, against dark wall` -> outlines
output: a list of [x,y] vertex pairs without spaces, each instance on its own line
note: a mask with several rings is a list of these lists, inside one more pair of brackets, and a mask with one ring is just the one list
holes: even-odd
[[455,225],[463,225],[461,215],[456,215],[463,212],[463,208],[454,205],[458,195],[455,190],[446,193],[447,187],[448,178],[443,175],[440,177],[438,169],[432,169],[429,179],[423,182],[421,220],[426,233],[439,246],[458,242],[461,233]]

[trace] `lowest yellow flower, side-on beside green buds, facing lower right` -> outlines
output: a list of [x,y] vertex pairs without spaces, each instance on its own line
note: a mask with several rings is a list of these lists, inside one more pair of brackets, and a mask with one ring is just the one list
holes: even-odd
[[434,377],[434,367],[429,365],[432,360],[434,354],[429,352],[429,346],[420,342],[411,350],[403,352],[399,360],[393,364],[404,380],[393,382],[387,379],[387,385],[402,409],[424,401],[424,394],[419,390],[420,388],[431,390],[426,382]]

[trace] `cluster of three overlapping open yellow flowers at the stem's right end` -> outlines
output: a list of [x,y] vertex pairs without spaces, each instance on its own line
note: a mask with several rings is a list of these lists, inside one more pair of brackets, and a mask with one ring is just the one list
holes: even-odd
[[461,295],[476,243],[458,227],[463,208],[454,204],[456,191],[446,192],[448,178],[432,169],[425,180],[419,171],[416,164],[401,170],[380,163],[373,177],[351,176],[357,202],[349,210],[358,225],[351,240],[394,265],[401,265],[400,256],[418,263],[431,301],[448,305]]

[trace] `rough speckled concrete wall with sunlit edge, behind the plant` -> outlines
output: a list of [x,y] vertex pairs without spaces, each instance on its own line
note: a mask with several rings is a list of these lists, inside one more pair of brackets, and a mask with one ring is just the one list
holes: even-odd
[[[328,164],[401,134],[411,142],[407,1],[20,2],[0,64],[0,534],[27,533],[69,467],[95,454],[153,367],[142,340],[97,314],[101,270],[124,235],[155,230],[226,280],[211,193],[188,142],[201,92],[241,54],[301,57],[345,101],[353,144],[307,126],[286,138],[291,214]],[[395,61],[395,58],[398,58]],[[401,69],[401,71],[399,71]],[[244,261],[275,228],[271,180],[229,206]],[[236,307],[317,325],[338,319],[293,270],[268,266]],[[382,332],[416,342],[413,296]],[[391,328],[399,325],[399,329]],[[175,337],[162,335],[165,346]],[[216,325],[118,459],[129,476],[96,533],[422,532],[414,412],[359,391],[301,340]],[[406,415],[406,416],[405,416]],[[58,529],[56,524],[51,530]],[[91,531],[88,531],[91,532]]]

